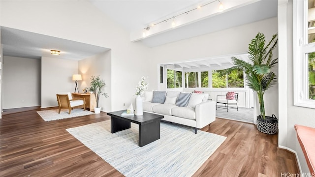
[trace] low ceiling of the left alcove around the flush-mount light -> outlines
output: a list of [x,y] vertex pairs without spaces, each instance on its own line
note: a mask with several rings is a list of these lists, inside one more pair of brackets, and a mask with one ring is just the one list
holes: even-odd
[[[4,56],[30,59],[40,59],[43,56],[80,60],[109,50],[90,44],[7,27],[1,27],[1,43]],[[61,55],[51,55],[50,50],[59,50]]]

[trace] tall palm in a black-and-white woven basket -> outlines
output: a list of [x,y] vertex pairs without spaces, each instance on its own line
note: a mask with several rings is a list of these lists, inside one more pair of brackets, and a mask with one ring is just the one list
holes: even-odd
[[265,35],[258,32],[248,47],[251,62],[232,57],[234,68],[243,69],[247,85],[257,93],[260,105],[260,115],[257,116],[257,129],[267,134],[278,132],[278,119],[275,115],[272,115],[272,117],[265,115],[263,98],[265,91],[277,83],[276,74],[271,71],[275,64],[278,63],[278,58],[274,59],[272,53],[278,43],[277,36],[278,34],[274,34],[265,46]]

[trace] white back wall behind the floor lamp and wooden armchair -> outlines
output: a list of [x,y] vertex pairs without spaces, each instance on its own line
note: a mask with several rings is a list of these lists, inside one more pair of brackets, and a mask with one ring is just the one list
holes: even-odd
[[[41,58],[41,107],[58,106],[58,92],[74,92],[72,75],[78,73],[78,61]],[[78,81],[80,82],[80,81]]]

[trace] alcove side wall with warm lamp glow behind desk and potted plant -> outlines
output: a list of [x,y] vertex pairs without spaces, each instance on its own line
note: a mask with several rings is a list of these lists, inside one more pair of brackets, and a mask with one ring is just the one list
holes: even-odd
[[111,51],[103,54],[93,56],[79,61],[79,74],[82,75],[82,82],[79,85],[79,91],[83,88],[89,88],[91,83],[91,76],[100,76],[104,80],[106,86],[103,92],[109,95],[108,98],[100,96],[99,107],[104,112],[109,112],[112,109],[112,85],[111,85]]

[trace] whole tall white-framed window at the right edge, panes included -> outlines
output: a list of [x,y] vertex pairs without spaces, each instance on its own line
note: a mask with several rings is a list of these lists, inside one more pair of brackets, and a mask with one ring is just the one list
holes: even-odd
[[294,105],[315,108],[314,0],[293,0]]

